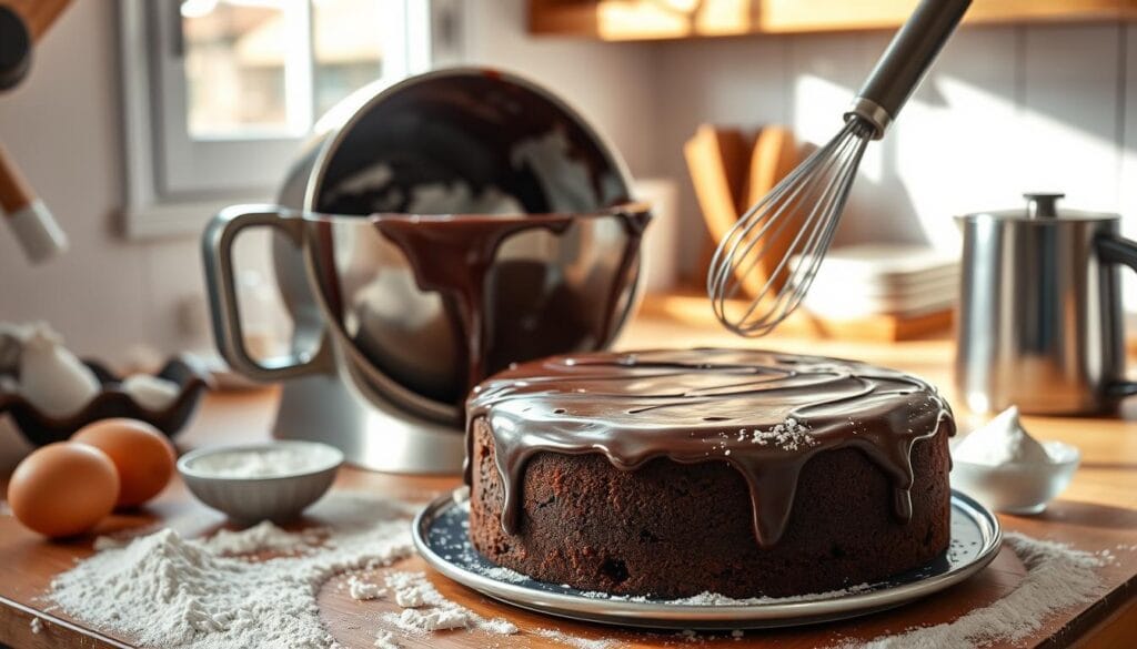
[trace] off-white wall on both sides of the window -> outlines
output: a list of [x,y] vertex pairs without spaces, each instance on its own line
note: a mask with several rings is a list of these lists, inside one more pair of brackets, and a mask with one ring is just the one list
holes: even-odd
[[[83,355],[113,361],[132,347],[209,348],[179,306],[204,294],[193,238],[119,235],[123,152],[117,15],[110,0],[75,2],[36,50],[31,76],[0,95],[0,142],[72,239],[65,257],[28,266],[0,230],[0,321],[45,319]],[[523,70],[570,95],[624,150],[633,172],[652,163],[653,67],[642,47],[533,41],[523,0],[468,2],[472,61]],[[208,215],[202,215],[205,219]]]

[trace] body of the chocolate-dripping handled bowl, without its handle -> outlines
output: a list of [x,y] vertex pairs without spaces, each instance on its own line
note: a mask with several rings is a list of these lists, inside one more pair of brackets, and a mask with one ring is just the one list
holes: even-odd
[[[631,308],[648,221],[632,205],[574,215],[333,217],[315,224],[314,261],[340,331],[367,363],[458,405],[512,363],[603,349]],[[392,257],[404,263],[383,261]],[[415,306],[423,294],[432,297],[426,308]],[[446,326],[417,326],[432,321]]]

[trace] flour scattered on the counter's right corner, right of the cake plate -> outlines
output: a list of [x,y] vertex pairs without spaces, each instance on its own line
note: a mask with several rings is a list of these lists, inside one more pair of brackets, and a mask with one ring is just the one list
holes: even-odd
[[1006,533],[1004,540],[1027,567],[1027,576],[1003,599],[952,623],[912,629],[865,643],[844,643],[839,649],[954,649],[997,641],[1019,643],[1041,629],[1049,615],[1098,594],[1102,582],[1097,568],[1109,563],[1101,554],[1015,532]]

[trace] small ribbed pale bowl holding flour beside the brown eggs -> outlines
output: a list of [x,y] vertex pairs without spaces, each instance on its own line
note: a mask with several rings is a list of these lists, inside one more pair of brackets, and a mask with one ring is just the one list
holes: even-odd
[[[302,471],[254,477],[218,475],[201,465],[221,454],[294,449],[309,458]],[[319,500],[335,480],[343,454],[335,447],[305,441],[213,447],[191,451],[177,460],[177,472],[201,502],[243,523],[285,522]]]

